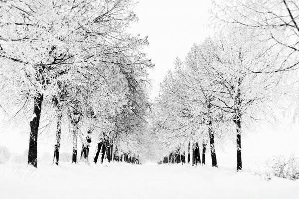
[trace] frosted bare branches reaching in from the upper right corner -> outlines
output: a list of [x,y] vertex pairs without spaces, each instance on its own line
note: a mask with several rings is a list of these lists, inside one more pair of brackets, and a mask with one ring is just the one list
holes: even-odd
[[274,65],[253,72],[292,71],[299,65],[299,2],[298,0],[232,0],[216,3],[212,13],[219,25],[251,31],[251,38],[260,41],[257,47],[275,48],[280,58]]

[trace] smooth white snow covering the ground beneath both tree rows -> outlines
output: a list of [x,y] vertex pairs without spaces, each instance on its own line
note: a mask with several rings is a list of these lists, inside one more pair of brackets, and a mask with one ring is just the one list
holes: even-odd
[[299,181],[235,168],[127,163],[0,164],[1,199],[296,199]]

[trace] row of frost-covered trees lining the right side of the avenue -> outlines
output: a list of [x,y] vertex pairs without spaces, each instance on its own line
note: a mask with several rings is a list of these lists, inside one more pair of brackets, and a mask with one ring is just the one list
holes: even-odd
[[215,135],[221,143],[234,129],[236,166],[242,170],[244,126],[269,113],[271,104],[291,91],[287,83],[297,81],[296,73],[287,71],[299,64],[298,7],[285,0],[215,3],[215,36],[194,44],[184,61],[177,58],[160,85],[153,120],[166,146],[162,157],[200,162],[202,146],[205,164],[209,142],[217,167]]

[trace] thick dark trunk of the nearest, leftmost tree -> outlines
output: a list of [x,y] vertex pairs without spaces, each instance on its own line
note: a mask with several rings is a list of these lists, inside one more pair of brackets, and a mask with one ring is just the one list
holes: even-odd
[[42,101],[43,101],[43,95],[37,93],[37,96],[34,97],[33,118],[32,121],[30,121],[28,164],[36,168],[37,168],[37,135],[38,135]]

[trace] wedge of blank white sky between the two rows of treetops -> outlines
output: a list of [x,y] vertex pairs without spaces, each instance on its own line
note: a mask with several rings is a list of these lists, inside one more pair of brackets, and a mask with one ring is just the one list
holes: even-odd
[[135,13],[138,23],[132,24],[133,33],[148,36],[145,48],[155,64],[149,71],[152,80],[151,98],[158,95],[159,83],[174,59],[184,59],[194,43],[202,42],[211,33],[208,29],[212,0],[139,0]]

